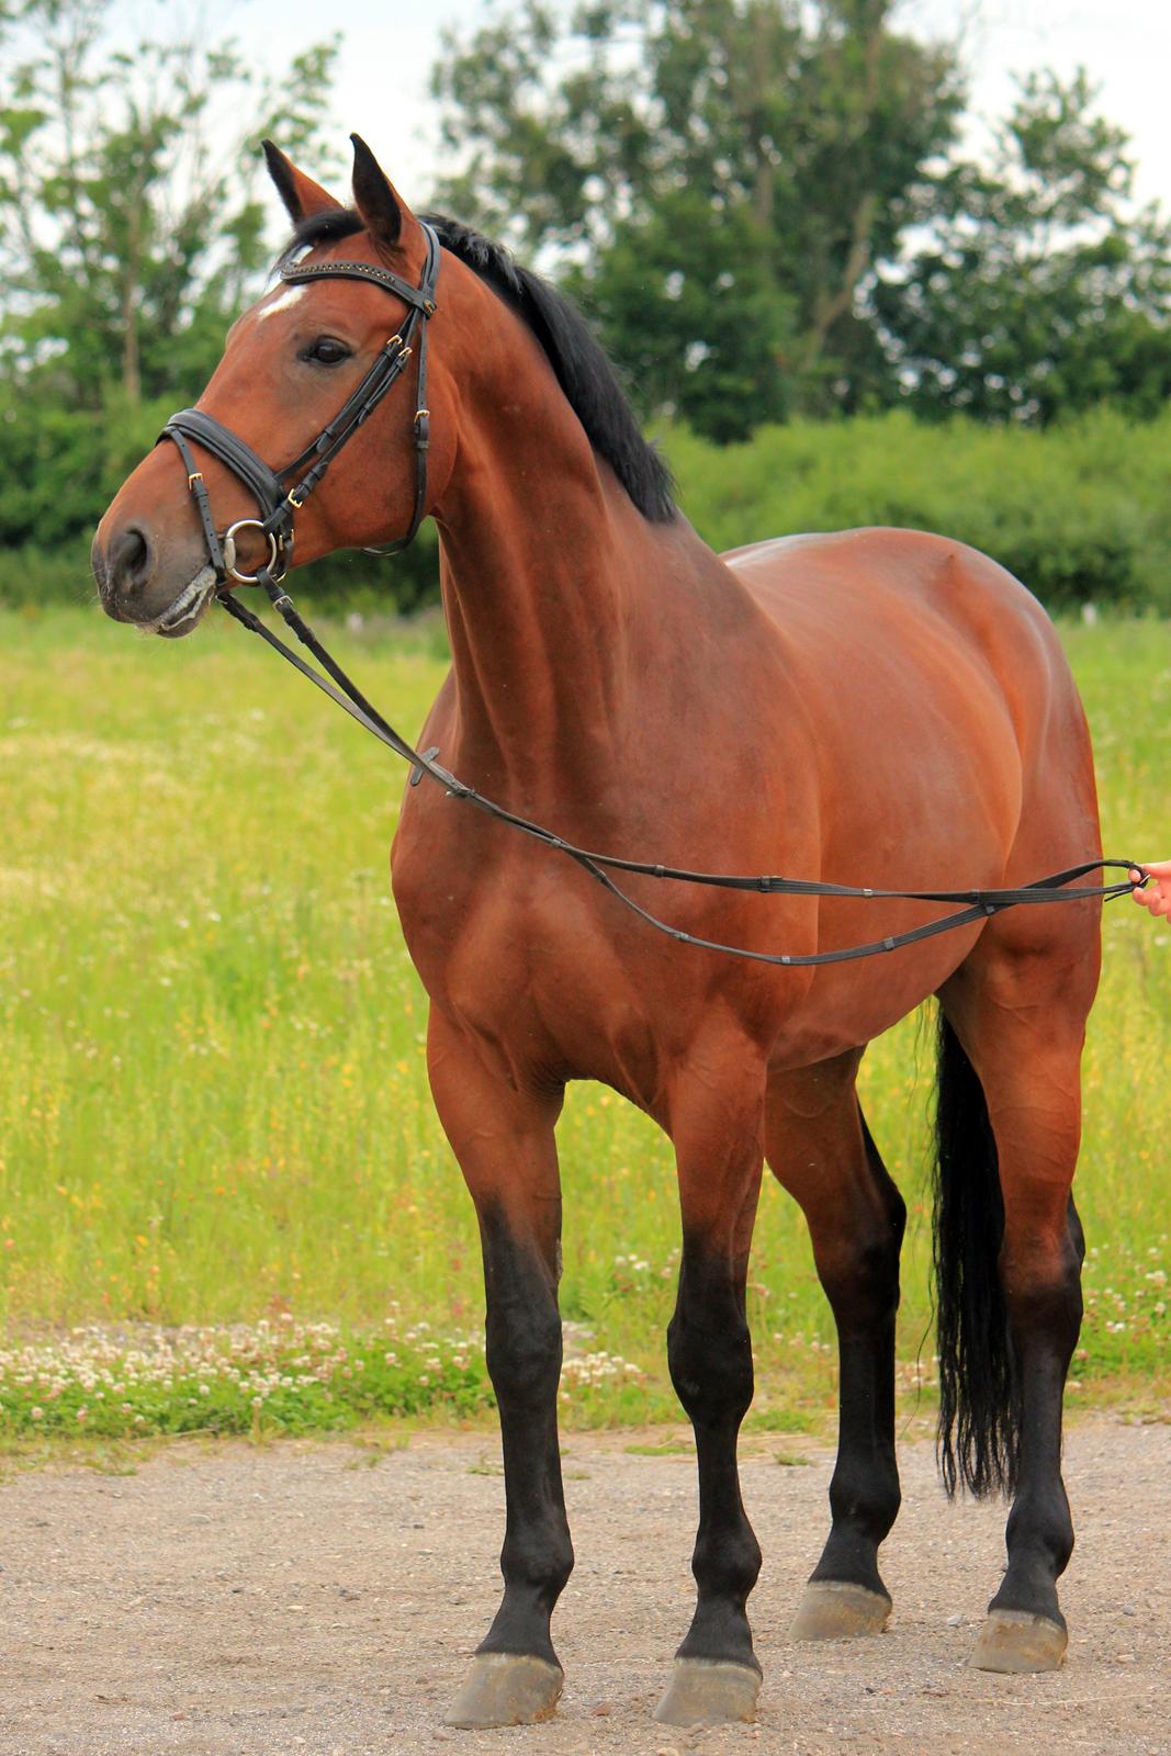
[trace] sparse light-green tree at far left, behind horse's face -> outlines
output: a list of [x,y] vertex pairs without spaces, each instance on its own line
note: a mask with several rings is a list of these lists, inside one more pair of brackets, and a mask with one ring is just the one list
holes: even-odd
[[0,369],[74,409],[207,378],[269,253],[256,142],[320,160],[335,54],[276,83],[230,42],[116,26],[111,0],[9,7],[0,83]]

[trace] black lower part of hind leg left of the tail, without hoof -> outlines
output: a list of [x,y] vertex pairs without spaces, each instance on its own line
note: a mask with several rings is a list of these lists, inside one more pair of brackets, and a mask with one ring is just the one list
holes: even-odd
[[813,1580],[887,1594],[878,1545],[899,1512],[895,1312],[906,1206],[862,1122],[878,1205],[867,1203],[832,1268],[822,1271],[837,1324],[839,1431],[829,1489],[832,1528]]

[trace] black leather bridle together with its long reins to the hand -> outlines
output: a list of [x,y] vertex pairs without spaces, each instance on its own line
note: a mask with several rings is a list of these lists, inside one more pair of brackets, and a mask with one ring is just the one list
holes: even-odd
[[[873,957],[878,952],[897,952],[904,945],[916,945],[920,939],[930,939],[938,932],[952,932],[957,927],[973,925],[974,922],[987,920],[1008,908],[1043,903],[1073,903],[1090,897],[1118,897],[1146,887],[1150,874],[1138,862],[1106,859],[1087,860],[1081,866],[1071,866],[1067,871],[1050,873],[1046,878],[1038,878],[1029,885],[1002,890],[876,890],[869,885],[853,887],[820,883],[811,878],[693,873],[674,866],[657,866],[646,860],[625,860],[609,853],[595,853],[588,848],[579,848],[572,841],[565,841],[562,836],[553,834],[551,829],[544,829],[541,824],[534,824],[527,817],[518,817],[514,811],[509,811],[506,806],[485,797],[485,794],[476,792],[474,787],[465,785],[465,781],[458,780],[446,767],[442,767],[435,760],[439,755],[437,748],[420,752],[400,732],[397,732],[395,727],[383,718],[377,708],[367,701],[356,683],[351,681],[332,653],[328,653],[321,644],[309,623],[300,616],[291,597],[283,590],[283,579],[293,560],[293,520],[297,511],[318,486],[346,441],[353,437],[365,420],[369,420],[392,385],[402,376],[407,360],[414,351],[418,351],[416,411],[413,421],[416,469],[411,527],[397,543],[379,550],[367,550],[365,553],[400,553],[409,543],[414,541],[420,523],[423,522],[427,509],[427,450],[430,443],[430,411],[427,409],[427,321],[435,311],[439,237],[432,227],[427,223],[421,225],[427,239],[427,260],[423,263],[423,274],[418,286],[411,286],[409,281],[402,281],[397,274],[392,274],[390,269],[381,269],[367,262],[321,262],[309,267],[290,265],[281,270],[281,279],[290,286],[321,279],[367,281],[381,286],[384,291],[404,300],[407,306],[406,321],[384,342],[377,360],[362,383],[351,392],[328,427],[325,427],[323,432],[309,446],[305,446],[305,450],[293,458],[291,464],[286,464],[279,471],[272,471],[249,444],[232,432],[232,428],[214,420],[214,416],[205,414],[202,409],[181,409],[177,414],[172,414],[160,434],[160,443],[169,439],[176,444],[188,472],[188,490],[195,500],[204,529],[207,557],[216,574],[216,597],[219,604],[223,604],[228,615],[233,616],[242,627],[258,634],[269,646],[279,651],[283,658],[302,673],[302,676],[307,676],[311,683],[335,701],[339,708],[344,708],[344,711],[349,713],[358,725],[363,725],[367,732],[393,750],[395,755],[402,757],[404,762],[409,762],[413,787],[416,787],[423,776],[428,776],[446,790],[448,797],[462,799],[495,822],[506,824],[509,829],[514,829],[523,836],[530,836],[534,841],[542,843],[557,853],[564,853],[567,859],[581,866],[583,871],[590,873],[597,883],[600,883],[618,903],[637,915],[639,920],[644,920],[646,925],[653,927],[657,932],[665,932],[679,945],[695,945],[700,950],[722,952],[727,957],[744,957],[760,964],[783,964],[785,968],[794,969],[818,964],[844,964],[853,962],[858,957]],[[225,530],[223,537],[219,537],[211,515],[211,500],[204,485],[204,476],[195,464],[188,441],[195,441],[205,451],[211,451],[212,457],[225,464],[251,490],[262,513],[260,518],[239,518]],[[304,471],[304,474],[300,474],[300,471]],[[293,486],[288,486],[288,478],[300,479],[293,479]],[[260,530],[269,543],[269,557],[256,569],[256,572],[246,574],[235,565],[235,534],[239,530]],[[276,636],[269,627],[265,627],[265,623],[255,616],[251,609],[241,604],[232,595],[232,583],[262,585],[284,623],[291,629],[302,646],[313,653],[327,676],[321,676],[321,673],[311,664],[305,664],[305,660],[286,646],[284,641],[279,639],[279,636]],[[1085,878],[1104,867],[1125,871],[1127,878],[1108,885],[1076,883],[1078,878]],[[720,945],[716,939],[702,939],[693,932],[685,932],[681,927],[672,927],[669,922],[660,920],[650,910],[643,908],[641,903],[636,903],[634,897],[627,896],[627,892],[621,890],[609,876],[611,873],[634,873],[643,878],[662,878],[672,883],[713,885],[722,890],[757,890],[764,896],[825,896],[851,897],[860,901],[959,903],[962,906],[950,915],[943,915],[939,920],[930,920],[908,932],[895,932],[883,939],[873,939],[867,945],[843,946],[836,952],[753,952],[743,945]],[[1131,873],[1138,873],[1138,878],[1129,876]]]

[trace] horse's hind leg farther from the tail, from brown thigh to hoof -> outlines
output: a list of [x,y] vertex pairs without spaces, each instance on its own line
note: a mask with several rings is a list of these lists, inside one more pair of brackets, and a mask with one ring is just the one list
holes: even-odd
[[878,1545],[899,1510],[894,1326],[906,1208],[858,1108],[860,1059],[848,1054],[769,1082],[769,1164],[804,1210],[839,1354],[832,1528],[794,1640],[880,1633],[890,1616]]

